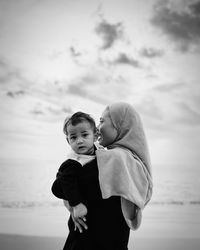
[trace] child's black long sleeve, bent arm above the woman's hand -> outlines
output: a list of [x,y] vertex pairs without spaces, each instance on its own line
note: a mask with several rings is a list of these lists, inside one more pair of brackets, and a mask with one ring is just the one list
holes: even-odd
[[53,194],[57,198],[68,200],[70,206],[76,206],[82,200],[77,180],[80,168],[82,168],[81,164],[75,160],[65,161],[60,166],[52,185]]

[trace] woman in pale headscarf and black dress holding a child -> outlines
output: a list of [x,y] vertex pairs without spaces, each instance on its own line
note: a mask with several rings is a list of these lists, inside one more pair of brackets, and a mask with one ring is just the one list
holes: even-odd
[[[86,223],[70,217],[71,230],[64,249],[70,249],[72,243],[74,250],[127,250],[130,228],[139,227],[141,211],[152,195],[148,147],[142,123],[132,106],[108,106],[98,129],[99,143],[109,149],[96,150],[98,167],[94,169],[99,195],[88,201]],[[79,229],[87,224],[88,229],[74,232],[74,224]],[[75,242],[81,242],[80,248],[73,246]]]

